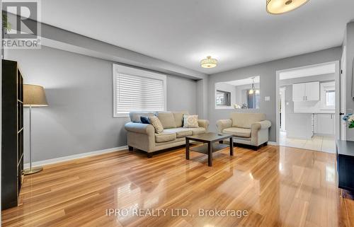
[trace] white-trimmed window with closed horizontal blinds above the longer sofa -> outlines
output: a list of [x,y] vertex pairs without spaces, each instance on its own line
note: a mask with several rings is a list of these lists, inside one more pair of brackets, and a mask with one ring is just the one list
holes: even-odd
[[113,64],[113,117],[166,110],[166,76]]

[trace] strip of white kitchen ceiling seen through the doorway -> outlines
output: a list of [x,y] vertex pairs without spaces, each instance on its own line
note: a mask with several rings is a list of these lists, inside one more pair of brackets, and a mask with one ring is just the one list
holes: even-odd
[[336,65],[334,63],[319,64],[315,66],[306,66],[298,69],[290,69],[282,71],[279,74],[280,80],[288,78],[299,78],[304,76],[317,76],[323,74],[334,74],[336,72]]

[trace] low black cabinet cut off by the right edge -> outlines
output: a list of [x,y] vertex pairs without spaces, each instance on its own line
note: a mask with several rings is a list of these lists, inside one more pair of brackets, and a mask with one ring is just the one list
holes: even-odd
[[354,141],[337,141],[338,187],[354,192]]

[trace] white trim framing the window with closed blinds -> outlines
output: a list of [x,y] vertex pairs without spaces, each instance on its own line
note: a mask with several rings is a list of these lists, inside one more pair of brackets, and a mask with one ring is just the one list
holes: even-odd
[[118,113],[117,112],[117,89],[115,88],[117,73],[128,74],[134,76],[142,76],[147,78],[154,78],[163,81],[164,83],[164,111],[167,110],[167,90],[166,90],[166,75],[154,73],[152,71],[147,71],[144,69],[135,69],[128,66],[122,66],[119,64],[113,64],[113,117],[129,117],[129,112]]

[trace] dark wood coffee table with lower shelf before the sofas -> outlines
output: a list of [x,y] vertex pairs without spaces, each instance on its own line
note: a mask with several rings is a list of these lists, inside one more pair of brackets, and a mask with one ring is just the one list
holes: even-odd
[[[230,144],[217,143],[219,141],[224,141],[225,139],[230,140]],[[202,146],[195,146],[192,149],[189,148],[189,141],[198,141],[205,143]],[[185,137],[185,159],[189,160],[190,151],[195,151],[199,153],[207,154],[207,165],[212,166],[212,153],[230,147],[230,156],[234,156],[234,143],[232,141],[231,134],[217,134],[214,132],[207,132],[203,134],[198,134],[195,136]]]

